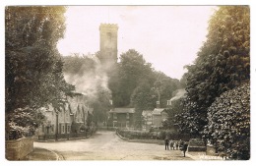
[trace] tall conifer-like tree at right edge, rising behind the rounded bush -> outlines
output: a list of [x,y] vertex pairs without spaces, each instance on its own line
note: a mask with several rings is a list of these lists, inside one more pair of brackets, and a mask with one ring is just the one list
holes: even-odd
[[182,121],[189,121],[184,130],[195,136],[207,125],[207,109],[216,97],[250,79],[249,7],[221,6],[208,29],[207,41],[185,74],[188,94]]

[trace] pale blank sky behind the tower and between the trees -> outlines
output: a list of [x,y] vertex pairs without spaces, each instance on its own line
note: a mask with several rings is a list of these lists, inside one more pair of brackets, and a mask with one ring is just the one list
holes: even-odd
[[99,51],[99,25],[118,25],[118,57],[129,49],[173,79],[181,79],[206,41],[216,6],[69,6],[66,32],[57,45],[64,55]]

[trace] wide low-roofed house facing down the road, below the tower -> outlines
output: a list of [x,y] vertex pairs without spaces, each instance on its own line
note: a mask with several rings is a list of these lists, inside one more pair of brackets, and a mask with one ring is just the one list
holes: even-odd
[[135,108],[113,108],[109,111],[108,127],[133,128]]

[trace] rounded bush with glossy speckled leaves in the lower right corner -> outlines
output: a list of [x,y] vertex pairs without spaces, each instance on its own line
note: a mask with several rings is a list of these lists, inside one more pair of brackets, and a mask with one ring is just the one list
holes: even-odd
[[250,83],[225,91],[208,109],[205,138],[235,159],[250,158]]

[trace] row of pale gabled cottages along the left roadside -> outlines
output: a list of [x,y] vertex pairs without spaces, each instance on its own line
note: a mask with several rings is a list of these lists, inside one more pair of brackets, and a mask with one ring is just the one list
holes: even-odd
[[[58,110],[51,105],[40,108],[45,116],[45,122],[38,128],[38,139],[69,138],[73,134],[83,134],[94,128],[94,123],[88,117],[94,115],[93,108],[87,104],[84,95],[68,97],[68,102]],[[92,119],[92,118],[91,118]]]

